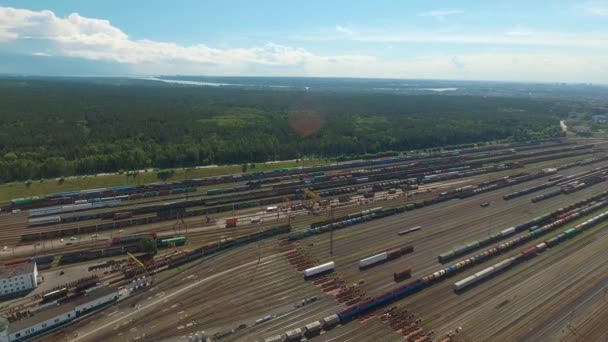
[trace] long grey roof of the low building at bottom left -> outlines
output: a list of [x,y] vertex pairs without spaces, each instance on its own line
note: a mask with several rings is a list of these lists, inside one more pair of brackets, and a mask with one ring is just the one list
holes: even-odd
[[[21,319],[16,322],[12,322],[9,324],[9,333],[15,333],[29,327],[35,326],[36,324],[42,323],[44,321],[48,321],[49,319],[53,319],[55,317],[61,316],[69,311],[74,310],[79,305],[92,302],[98,298],[105,297],[109,294],[116,293],[118,294],[118,290],[112,287],[102,287],[96,290],[89,292],[86,296],[78,297],[75,300],[63,303],[60,306],[53,306],[51,308],[42,310],[36,313],[32,317],[27,317]],[[74,317],[72,317],[74,318]]]

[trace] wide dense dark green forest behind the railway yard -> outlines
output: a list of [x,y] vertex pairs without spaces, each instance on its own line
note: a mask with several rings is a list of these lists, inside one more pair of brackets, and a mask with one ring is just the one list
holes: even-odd
[[556,137],[567,112],[517,97],[4,78],[0,182]]

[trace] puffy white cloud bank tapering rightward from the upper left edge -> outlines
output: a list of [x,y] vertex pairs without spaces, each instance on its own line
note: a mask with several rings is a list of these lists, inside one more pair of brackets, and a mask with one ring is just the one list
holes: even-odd
[[[300,67],[310,64],[369,62],[362,55],[321,56],[302,48],[267,43],[252,48],[182,46],[154,40],[133,40],[107,20],[72,13],[65,18],[51,11],[0,7],[0,41],[36,40],[52,44],[53,54],[90,60],[167,68],[199,65],[216,74],[246,70],[251,65]],[[205,69],[203,68],[203,69]]]

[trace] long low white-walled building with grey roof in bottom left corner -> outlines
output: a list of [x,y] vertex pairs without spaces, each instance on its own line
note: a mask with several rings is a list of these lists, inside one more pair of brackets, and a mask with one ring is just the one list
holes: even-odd
[[42,310],[31,317],[8,323],[8,326],[4,327],[4,332],[0,328],[0,342],[30,340],[113,303],[118,300],[118,297],[118,290],[115,288],[95,289],[75,300]]

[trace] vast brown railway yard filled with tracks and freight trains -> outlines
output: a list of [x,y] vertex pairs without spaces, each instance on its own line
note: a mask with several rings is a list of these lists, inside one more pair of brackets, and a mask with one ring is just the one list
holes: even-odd
[[131,289],[45,341],[605,341],[607,151],[491,145],[18,199],[0,260]]

